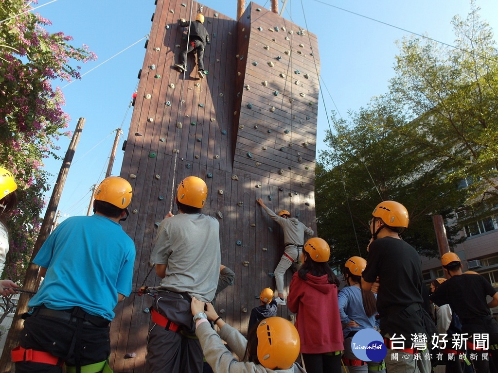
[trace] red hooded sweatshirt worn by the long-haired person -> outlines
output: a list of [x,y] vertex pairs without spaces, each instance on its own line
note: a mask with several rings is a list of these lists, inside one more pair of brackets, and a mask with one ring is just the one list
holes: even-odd
[[296,329],[301,340],[301,353],[323,354],[344,350],[337,286],[327,275],[306,275],[302,280],[294,273],[290,281],[287,304],[297,313]]

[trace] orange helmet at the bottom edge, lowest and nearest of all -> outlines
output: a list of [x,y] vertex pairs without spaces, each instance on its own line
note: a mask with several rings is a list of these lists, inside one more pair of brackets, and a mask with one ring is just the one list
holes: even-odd
[[292,367],[301,343],[290,321],[277,316],[268,317],[259,323],[256,335],[259,364],[271,370]]

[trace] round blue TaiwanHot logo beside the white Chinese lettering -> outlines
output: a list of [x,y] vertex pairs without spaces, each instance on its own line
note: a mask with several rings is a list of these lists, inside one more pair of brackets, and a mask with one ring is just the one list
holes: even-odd
[[357,359],[364,362],[380,362],[387,355],[384,339],[374,329],[362,329],[351,340],[351,349]]

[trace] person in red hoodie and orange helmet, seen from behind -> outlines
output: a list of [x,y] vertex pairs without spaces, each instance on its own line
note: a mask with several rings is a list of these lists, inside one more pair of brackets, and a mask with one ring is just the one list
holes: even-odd
[[308,373],[341,372],[344,338],[337,299],[339,280],[329,267],[329,258],[325,240],[309,239],[301,254],[303,265],[292,276],[287,297],[289,310],[297,313],[296,328]]

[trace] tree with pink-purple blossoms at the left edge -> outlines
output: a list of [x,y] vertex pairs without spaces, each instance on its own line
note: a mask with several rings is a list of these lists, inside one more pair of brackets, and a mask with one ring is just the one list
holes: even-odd
[[69,117],[64,96],[53,80],[80,77],[75,61],[96,56],[68,44],[70,36],[49,33],[50,21],[32,13],[31,1],[3,0],[0,6],[0,163],[19,185],[18,209],[6,222],[11,249],[4,277],[21,280],[40,227],[39,215],[48,189],[43,159],[58,149]]

